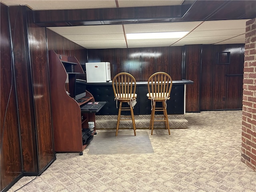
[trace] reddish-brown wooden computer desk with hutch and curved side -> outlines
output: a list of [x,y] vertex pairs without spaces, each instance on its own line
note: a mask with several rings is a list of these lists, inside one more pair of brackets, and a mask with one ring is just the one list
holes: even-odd
[[[82,155],[86,147],[82,143],[82,128],[88,128],[88,122],[95,123],[95,114],[81,113],[80,105],[85,102],[76,102],[68,92],[72,95],[75,77],[84,71],[75,57],[56,54],[52,50],[49,51],[49,66],[55,151],[80,152]],[[86,92],[86,98],[86,102],[94,101],[89,92]]]

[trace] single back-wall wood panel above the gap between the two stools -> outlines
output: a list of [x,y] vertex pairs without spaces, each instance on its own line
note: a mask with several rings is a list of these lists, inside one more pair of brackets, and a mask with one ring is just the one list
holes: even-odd
[[143,48],[142,49],[142,80],[148,78],[156,71],[156,49]]

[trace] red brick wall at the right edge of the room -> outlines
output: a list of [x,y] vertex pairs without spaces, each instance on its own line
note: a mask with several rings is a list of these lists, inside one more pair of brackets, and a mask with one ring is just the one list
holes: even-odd
[[246,22],[242,162],[256,171],[256,18]]

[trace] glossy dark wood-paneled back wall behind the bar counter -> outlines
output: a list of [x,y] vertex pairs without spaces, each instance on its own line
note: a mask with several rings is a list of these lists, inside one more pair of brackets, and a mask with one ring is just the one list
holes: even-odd
[[163,71],[172,80],[182,80],[183,47],[90,49],[88,62],[110,62],[112,78],[128,72],[136,81],[148,81],[155,72]]

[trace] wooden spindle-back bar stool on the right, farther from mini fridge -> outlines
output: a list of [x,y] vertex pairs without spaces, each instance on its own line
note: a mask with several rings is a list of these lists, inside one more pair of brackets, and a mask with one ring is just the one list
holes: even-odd
[[[166,100],[170,99],[172,89],[172,78],[165,72],[156,72],[148,79],[148,94],[147,97],[151,100],[151,117],[149,129],[153,135],[154,121],[164,121],[165,128],[168,129],[170,135],[170,126],[168,122],[168,114],[166,110]],[[156,107],[156,102],[161,102],[162,107]],[[162,111],[164,119],[155,120],[155,112]]]

